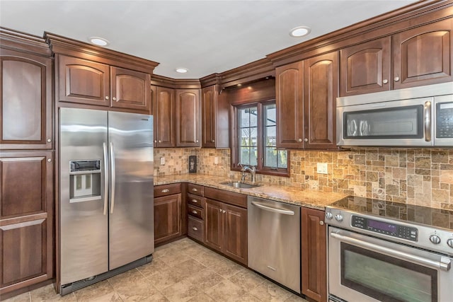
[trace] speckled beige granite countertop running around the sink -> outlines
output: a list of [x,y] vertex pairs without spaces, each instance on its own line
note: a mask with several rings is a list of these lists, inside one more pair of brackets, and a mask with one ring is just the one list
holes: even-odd
[[255,197],[285,202],[287,204],[296,204],[301,207],[325,210],[328,204],[338,201],[345,197],[345,194],[322,192],[316,190],[302,190],[295,187],[280,187],[277,185],[268,185],[260,183],[259,187],[250,189],[239,189],[228,185],[221,185],[220,182],[238,181],[225,176],[213,176],[204,174],[178,174],[166,176],[154,176],[154,185],[168,185],[176,182],[190,182],[206,187],[215,187],[217,189],[238,192]]

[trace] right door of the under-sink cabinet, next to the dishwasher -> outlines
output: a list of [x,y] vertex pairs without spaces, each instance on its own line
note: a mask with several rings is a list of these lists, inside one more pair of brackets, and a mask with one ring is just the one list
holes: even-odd
[[247,265],[247,210],[224,204],[224,254]]

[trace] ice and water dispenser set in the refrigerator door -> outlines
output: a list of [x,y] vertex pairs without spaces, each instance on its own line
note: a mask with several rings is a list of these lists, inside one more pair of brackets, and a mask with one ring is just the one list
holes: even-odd
[[101,199],[101,161],[69,161],[69,202]]

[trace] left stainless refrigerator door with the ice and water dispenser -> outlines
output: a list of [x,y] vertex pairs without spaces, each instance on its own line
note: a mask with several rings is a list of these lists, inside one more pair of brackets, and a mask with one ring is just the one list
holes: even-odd
[[59,121],[60,277],[68,284],[108,271],[107,112],[60,108]]

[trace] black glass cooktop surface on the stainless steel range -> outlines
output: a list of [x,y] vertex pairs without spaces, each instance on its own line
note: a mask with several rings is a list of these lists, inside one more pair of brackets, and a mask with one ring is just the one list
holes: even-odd
[[453,230],[453,211],[447,209],[356,196],[345,197],[329,204],[328,207]]

